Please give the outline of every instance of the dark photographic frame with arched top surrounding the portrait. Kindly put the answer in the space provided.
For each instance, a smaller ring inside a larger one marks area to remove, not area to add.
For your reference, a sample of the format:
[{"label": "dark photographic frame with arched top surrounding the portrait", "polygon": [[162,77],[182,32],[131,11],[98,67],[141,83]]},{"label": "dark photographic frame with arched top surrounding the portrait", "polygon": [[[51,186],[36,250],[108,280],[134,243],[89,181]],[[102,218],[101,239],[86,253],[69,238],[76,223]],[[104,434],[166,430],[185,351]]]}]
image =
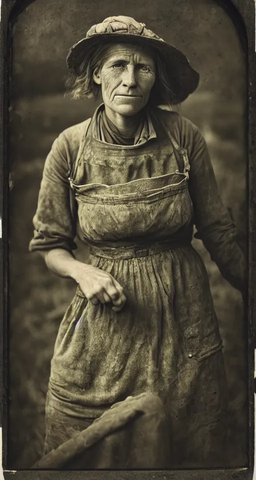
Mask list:
[{"label": "dark photographic frame with arched top surrounding the portrait", "polygon": [[[36,0],[34,0],[36,1]],[[201,470],[169,470],[169,471],[150,471],[150,470],[83,470],[83,471],[43,471],[43,470],[19,470],[15,473],[15,478],[52,478],[52,479],[71,479],[73,476],[93,480],[94,478],[122,478],[129,480],[131,478],[143,479],[247,479],[252,478],[253,474],[253,456],[254,456],[254,335],[256,331],[256,308],[254,301],[254,285],[256,284],[256,46],[255,46],[255,2],[253,0],[215,0],[219,3],[231,17],[239,34],[240,41],[245,51],[247,51],[247,192],[248,192],[248,296],[246,300],[247,324],[248,324],[248,389],[249,389],[249,466],[247,468],[234,469],[201,469]],[[8,160],[7,160],[7,140],[8,140],[8,84],[10,78],[11,64],[11,24],[13,19],[29,4],[28,0],[2,0],[1,3],[1,108],[0,108],[0,218],[2,219],[2,238],[0,241],[0,304],[1,304],[1,334],[0,334],[0,364],[1,364],[1,398],[2,398],[2,432],[3,432],[3,469],[6,465],[6,438],[7,438],[7,407],[8,407],[8,327],[7,327],[7,309],[8,309],[8,211],[7,211],[7,193],[8,193]],[[224,48],[224,45],[223,45]],[[13,472],[4,470],[4,478],[10,478]]]}]

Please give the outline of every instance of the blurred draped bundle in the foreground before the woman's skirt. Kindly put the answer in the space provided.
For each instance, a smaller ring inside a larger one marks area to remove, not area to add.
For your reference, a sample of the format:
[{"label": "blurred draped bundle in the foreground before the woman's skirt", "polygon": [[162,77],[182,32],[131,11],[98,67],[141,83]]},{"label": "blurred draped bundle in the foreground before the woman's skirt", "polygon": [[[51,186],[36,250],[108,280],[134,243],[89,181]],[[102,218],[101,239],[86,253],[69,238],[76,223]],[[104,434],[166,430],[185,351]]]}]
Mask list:
[{"label": "blurred draped bundle in the foreground before the woman's skirt", "polygon": [[127,397],[44,455],[32,468],[167,468],[166,426],[158,396],[142,393]]}]

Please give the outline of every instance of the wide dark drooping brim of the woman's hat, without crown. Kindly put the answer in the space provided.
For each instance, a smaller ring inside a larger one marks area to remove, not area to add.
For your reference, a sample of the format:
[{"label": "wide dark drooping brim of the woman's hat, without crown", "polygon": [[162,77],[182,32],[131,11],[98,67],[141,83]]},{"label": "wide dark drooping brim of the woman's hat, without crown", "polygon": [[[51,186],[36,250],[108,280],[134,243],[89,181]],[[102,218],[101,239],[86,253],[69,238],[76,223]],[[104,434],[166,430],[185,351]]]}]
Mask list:
[{"label": "wide dark drooping brim of the woman's hat, without crown", "polygon": [[109,42],[135,43],[158,50],[165,62],[165,67],[174,93],[175,101],[180,103],[192,93],[198,86],[199,73],[191,67],[187,57],[175,46],[156,38],[150,38],[132,33],[94,33],[90,37],[82,38],[68,51],[66,64],[69,70],[78,72],[84,56],[96,45]]}]

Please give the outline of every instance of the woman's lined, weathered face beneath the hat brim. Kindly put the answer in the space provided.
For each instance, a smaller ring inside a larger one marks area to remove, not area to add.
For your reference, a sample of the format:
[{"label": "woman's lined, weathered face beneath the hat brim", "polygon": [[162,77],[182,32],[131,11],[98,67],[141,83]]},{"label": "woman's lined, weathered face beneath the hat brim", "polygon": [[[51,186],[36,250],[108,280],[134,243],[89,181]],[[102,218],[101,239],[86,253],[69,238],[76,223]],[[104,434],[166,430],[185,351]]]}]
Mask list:
[{"label": "woman's lined, weathered face beneath the hat brim", "polygon": [[134,115],[149,98],[155,80],[155,62],[146,50],[135,45],[111,45],[93,79],[101,84],[108,108],[121,115]]}]

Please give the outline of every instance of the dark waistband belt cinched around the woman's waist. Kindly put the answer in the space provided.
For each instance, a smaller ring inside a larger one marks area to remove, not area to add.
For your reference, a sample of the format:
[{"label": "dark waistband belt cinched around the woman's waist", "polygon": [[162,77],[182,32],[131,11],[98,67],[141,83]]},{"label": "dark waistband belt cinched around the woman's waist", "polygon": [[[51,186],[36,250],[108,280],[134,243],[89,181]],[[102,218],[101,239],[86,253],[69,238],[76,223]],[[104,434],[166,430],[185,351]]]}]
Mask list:
[{"label": "dark waistband belt cinched around the woman's waist", "polygon": [[191,246],[191,238],[164,240],[158,243],[137,244],[130,246],[99,246],[89,244],[90,254],[103,258],[142,258],[161,251],[171,250],[173,248]]}]

